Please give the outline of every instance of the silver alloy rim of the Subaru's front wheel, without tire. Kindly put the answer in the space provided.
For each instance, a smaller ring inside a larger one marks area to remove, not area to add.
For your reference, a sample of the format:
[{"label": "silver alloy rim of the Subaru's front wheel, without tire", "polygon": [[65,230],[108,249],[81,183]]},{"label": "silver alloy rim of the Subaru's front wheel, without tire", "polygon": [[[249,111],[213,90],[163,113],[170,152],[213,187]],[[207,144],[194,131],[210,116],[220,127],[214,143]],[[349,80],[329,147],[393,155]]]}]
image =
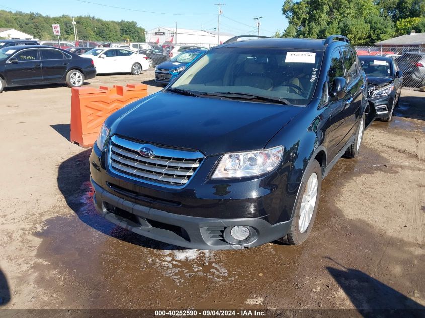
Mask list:
[{"label": "silver alloy rim of the Subaru's front wheel, without tire", "polygon": [[312,173],[308,178],[307,186],[305,187],[301,201],[300,219],[298,221],[298,227],[301,233],[307,231],[311,218],[313,217],[317,201],[318,185],[317,174]]}]

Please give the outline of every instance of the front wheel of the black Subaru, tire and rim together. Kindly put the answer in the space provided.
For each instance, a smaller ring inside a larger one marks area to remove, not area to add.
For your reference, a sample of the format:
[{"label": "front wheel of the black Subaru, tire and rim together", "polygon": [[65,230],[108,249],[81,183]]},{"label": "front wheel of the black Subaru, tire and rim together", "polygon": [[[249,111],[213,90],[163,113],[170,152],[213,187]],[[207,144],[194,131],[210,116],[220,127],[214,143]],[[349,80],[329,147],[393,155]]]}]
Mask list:
[{"label": "front wheel of the black Subaru, tire and rim together", "polygon": [[[316,185],[315,190],[313,189],[314,184]],[[311,190],[309,191],[310,186]],[[307,239],[316,219],[321,186],[322,169],[319,162],[313,159],[301,181],[291,227],[288,233],[280,238],[279,241],[289,245],[299,245]],[[314,205],[312,206],[313,199]]]}]

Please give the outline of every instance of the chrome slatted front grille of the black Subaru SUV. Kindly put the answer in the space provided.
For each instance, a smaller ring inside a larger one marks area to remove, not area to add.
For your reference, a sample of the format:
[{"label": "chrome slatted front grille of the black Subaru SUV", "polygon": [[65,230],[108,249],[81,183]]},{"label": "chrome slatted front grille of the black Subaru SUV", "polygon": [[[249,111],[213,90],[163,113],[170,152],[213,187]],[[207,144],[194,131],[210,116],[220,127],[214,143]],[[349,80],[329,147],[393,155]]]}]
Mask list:
[{"label": "chrome slatted front grille of the black Subaru SUV", "polygon": [[[153,149],[153,157],[138,154],[138,149],[143,147]],[[119,174],[169,186],[184,186],[204,159],[198,151],[162,148],[117,136],[111,137],[108,157],[109,167]]]}]

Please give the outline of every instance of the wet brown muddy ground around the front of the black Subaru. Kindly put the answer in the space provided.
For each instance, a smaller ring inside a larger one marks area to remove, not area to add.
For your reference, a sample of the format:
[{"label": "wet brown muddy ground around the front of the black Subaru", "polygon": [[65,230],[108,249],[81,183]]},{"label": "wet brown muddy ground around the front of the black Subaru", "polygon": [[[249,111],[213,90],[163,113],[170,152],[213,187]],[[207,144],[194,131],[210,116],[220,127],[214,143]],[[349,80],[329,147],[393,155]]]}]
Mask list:
[{"label": "wet brown muddy ground around the front of the black Subaru", "polygon": [[[40,275],[39,283],[60,288],[64,299],[77,293],[82,308],[422,307],[397,290],[416,285],[425,292],[425,283],[414,278],[424,270],[411,264],[422,264],[425,256],[411,252],[407,242],[377,235],[369,224],[348,220],[333,204],[338,188],[354,175],[396,173],[368,147],[357,160],[339,161],[323,181],[305,243],[242,251],[180,249],[106,221],[93,207],[89,152],[60,165],[58,186],[75,215],[47,220],[37,233],[43,240],[36,255],[48,263],[40,272],[55,270],[61,277]],[[403,268],[396,279],[391,267]]]}]

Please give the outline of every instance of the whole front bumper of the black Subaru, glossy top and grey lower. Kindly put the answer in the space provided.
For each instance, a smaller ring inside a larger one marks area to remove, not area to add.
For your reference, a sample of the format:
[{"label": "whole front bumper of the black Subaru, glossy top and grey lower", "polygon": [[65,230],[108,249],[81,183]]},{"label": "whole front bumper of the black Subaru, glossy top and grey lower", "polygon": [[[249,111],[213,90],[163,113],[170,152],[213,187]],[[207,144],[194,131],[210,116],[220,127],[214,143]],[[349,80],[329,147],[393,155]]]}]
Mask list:
[{"label": "whole front bumper of the black Subaru, glossy top and grey lower", "polygon": [[[187,248],[240,249],[271,242],[289,230],[299,183],[286,182],[277,171],[258,179],[211,180],[220,159],[215,155],[204,159],[184,187],[164,187],[116,174],[108,153],[95,144],[90,156],[95,206],[135,233]],[[225,236],[235,225],[251,227],[250,239],[229,243]]]}]

